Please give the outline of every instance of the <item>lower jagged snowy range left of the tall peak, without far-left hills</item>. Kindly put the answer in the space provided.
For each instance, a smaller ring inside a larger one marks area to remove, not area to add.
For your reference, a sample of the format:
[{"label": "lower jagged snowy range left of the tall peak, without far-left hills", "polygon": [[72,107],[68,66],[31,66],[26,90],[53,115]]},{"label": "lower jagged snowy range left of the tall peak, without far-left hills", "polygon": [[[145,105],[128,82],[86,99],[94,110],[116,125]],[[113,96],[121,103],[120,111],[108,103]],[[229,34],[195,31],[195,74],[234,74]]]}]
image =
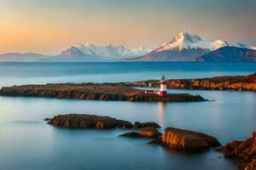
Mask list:
[{"label": "lower jagged snowy range left of the tall peak, without far-left hills", "polygon": [[44,62],[96,62],[136,58],[147,54],[149,48],[125,48],[124,46],[96,46],[91,43],[78,44],[67,48],[61,54],[40,59]]}]

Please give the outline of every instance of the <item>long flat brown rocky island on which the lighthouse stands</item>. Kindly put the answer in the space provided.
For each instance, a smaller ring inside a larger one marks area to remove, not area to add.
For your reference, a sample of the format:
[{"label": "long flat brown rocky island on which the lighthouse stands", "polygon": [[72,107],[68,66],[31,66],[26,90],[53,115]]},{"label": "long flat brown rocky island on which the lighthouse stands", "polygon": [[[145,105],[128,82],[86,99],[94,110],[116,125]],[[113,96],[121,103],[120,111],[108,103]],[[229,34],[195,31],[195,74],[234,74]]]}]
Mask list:
[{"label": "long flat brown rocky island on which the lighthouse stands", "polygon": [[45,97],[57,99],[95,99],[147,102],[189,102],[206,101],[200,95],[191,94],[144,94],[143,90],[108,83],[46,84],[3,87],[3,96]]}]

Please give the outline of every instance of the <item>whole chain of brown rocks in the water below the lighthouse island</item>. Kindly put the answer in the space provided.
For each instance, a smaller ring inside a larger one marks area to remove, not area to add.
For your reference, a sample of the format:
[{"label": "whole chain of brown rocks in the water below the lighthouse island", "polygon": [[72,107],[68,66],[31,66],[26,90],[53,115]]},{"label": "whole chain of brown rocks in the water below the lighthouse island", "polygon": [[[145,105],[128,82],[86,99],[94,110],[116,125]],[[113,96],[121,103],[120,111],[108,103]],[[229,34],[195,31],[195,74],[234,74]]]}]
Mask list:
[{"label": "whole chain of brown rocks in the water below the lighthouse island", "polygon": [[167,127],[162,136],[157,128],[159,124],[155,122],[127,122],[118,120],[110,116],[96,115],[59,115],[53,118],[46,118],[45,121],[55,127],[65,128],[125,128],[139,130],[138,132],[124,133],[119,136],[131,138],[155,138],[151,144],[160,144],[169,149],[185,150],[185,151],[202,151],[209,150],[211,147],[219,146],[217,139],[205,133],[197,133],[193,131]]}]

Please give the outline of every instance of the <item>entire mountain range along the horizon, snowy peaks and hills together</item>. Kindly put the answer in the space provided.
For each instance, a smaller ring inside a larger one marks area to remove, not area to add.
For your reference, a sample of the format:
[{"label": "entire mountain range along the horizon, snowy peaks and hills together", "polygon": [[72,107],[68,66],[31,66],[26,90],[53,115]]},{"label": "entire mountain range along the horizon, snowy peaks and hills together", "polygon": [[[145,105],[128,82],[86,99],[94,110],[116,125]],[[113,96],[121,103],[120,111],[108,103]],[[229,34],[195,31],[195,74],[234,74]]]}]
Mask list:
[{"label": "entire mountain range along the horizon, snowy peaks and hills together", "polygon": [[206,41],[187,31],[177,33],[160,47],[126,48],[123,45],[73,45],[54,56],[43,54],[0,54],[0,61],[97,62],[97,61],[256,61],[256,46],[223,40]]}]

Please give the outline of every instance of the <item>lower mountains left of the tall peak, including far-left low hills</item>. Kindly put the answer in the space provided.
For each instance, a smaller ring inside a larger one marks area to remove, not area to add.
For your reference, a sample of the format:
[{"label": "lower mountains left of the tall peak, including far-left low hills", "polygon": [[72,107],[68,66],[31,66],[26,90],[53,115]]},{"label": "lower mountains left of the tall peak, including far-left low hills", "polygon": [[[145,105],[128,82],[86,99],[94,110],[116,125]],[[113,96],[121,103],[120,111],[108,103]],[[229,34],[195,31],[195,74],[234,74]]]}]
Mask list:
[{"label": "lower mountains left of the tall peak, including far-left low hills", "polygon": [[149,48],[126,48],[123,45],[96,46],[91,43],[78,44],[67,48],[58,55],[43,55],[33,53],[0,54],[0,62],[94,62],[122,61],[142,56],[150,52]]}]

